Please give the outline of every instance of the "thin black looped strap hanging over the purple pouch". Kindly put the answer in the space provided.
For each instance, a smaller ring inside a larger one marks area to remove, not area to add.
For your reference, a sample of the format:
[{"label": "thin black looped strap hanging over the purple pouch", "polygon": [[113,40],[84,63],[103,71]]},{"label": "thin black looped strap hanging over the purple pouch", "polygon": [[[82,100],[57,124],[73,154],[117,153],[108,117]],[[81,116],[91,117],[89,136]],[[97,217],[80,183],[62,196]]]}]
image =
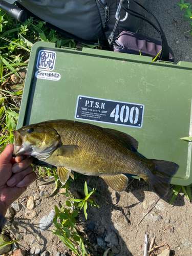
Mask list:
[{"label": "thin black looped strap hanging over the purple pouch", "polygon": [[132,16],[135,16],[137,18],[141,18],[143,20],[145,20],[147,23],[149,23],[150,25],[152,25],[161,35],[161,41],[162,41],[162,50],[161,50],[161,54],[160,54],[160,57],[159,59],[160,60],[164,60],[164,61],[169,61],[169,50],[168,50],[168,44],[167,44],[167,40],[166,40],[166,37],[165,37],[165,34],[161,28],[161,25],[159,24],[157,18],[153,15],[153,13],[151,13],[150,11],[148,11],[143,5],[141,5],[138,1],[136,0],[133,0],[136,4],[138,4],[140,7],[142,7],[145,11],[147,11],[149,14],[151,14],[158,26],[159,26],[159,29],[156,27],[155,24],[153,24],[151,22],[150,19],[146,18],[145,16],[143,16],[142,14],[139,14],[138,12],[135,12],[133,10],[130,10],[130,9],[127,9],[126,7],[123,6],[123,0],[120,0],[120,4],[121,4],[121,7],[126,11],[128,12],[129,14],[131,14]]}]

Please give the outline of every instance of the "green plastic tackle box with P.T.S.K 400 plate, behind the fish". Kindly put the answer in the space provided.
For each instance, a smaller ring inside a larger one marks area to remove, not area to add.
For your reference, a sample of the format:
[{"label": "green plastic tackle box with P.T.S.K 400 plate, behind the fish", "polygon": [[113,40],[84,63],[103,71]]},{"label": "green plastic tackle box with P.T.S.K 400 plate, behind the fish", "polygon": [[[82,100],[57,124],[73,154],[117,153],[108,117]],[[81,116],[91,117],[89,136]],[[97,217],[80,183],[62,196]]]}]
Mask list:
[{"label": "green plastic tackle box with P.T.S.K 400 plate, behind the fish", "polygon": [[17,129],[56,119],[116,129],[138,140],[146,158],[179,164],[171,183],[190,185],[191,142],[181,138],[192,137],[191,80],[190,62],[37,42]]}]

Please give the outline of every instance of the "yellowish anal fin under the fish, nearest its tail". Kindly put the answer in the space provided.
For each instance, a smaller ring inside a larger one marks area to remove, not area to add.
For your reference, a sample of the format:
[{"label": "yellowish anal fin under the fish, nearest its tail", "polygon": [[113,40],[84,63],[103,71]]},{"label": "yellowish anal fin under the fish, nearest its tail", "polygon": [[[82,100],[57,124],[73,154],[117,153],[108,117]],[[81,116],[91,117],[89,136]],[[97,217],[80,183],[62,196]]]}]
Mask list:
[{"label": "yellowish anal fin under the fish, nearest its tail", "polygon": [[106,184],[108,184],[108,186],[118,192],[124,191],[128,184],[128,178],[124,174],[113,176],[101,175],[99,177],[101,177],[106,182]]}]

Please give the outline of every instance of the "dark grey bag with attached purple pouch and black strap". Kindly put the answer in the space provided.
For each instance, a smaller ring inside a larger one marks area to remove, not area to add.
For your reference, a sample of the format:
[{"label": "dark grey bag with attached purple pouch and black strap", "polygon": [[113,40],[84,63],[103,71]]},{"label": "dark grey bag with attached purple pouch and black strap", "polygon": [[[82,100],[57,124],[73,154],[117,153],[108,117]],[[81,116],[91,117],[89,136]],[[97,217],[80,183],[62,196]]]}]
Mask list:
[{"label": "dark grey bag with attached purple pouch and black strap", "polygon": [[[143,3],[145,0],[140,1]],[[17,6],[29,16],[46,20],[50,28],[85,44],[98,44],[99,40],[99,44],[107,46],[108,39],[115,52],[174,61],[173,52],[167,45],[158,20],[136,0],[120,0],[120,3],[117,0],[25,0],[17,2]],[[142,9],[155,18],[159,28],[141,15]],[[135,33],[139,18],[150,23],[160,33],[162,44],[156,39]]]}]

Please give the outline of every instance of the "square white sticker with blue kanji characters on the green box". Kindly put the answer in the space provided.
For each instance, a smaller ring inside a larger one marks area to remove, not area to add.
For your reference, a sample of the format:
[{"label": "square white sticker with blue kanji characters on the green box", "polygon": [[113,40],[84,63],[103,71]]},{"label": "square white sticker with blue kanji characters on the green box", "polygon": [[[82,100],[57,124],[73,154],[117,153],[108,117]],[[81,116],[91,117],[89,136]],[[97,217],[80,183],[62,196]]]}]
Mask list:
[{"label": "square white sticker with blue kanji characters on the green box", "polygon": [[55,67],[56,52],[41,50],[38,54],[37,69],[53,70]]}]

